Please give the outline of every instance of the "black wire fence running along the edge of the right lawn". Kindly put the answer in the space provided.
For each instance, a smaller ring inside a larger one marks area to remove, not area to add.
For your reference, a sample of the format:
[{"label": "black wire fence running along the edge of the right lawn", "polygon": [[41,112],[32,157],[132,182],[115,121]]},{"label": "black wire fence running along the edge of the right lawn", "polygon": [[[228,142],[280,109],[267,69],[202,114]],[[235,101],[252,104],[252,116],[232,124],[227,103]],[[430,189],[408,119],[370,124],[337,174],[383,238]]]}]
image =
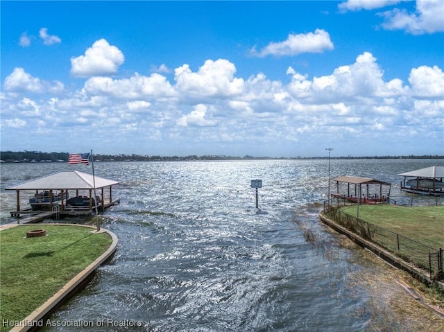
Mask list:
[{"label": "black wire fence running along the edge of the right lawn", "polygon": [[443,279],[443,249],[436,249],[383,227],[351,216],[325,203],[325,216],[353,233],[384,247],[404,261],[427,270],[430,279]]}]

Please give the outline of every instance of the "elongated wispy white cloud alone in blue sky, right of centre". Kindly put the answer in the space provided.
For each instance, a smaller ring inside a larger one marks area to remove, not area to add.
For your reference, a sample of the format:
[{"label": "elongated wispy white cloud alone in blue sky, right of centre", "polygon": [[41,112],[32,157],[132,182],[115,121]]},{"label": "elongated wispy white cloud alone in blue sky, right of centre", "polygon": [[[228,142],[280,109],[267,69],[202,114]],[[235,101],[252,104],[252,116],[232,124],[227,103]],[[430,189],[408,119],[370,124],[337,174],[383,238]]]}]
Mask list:
[{"label": "elongated wispy white cloud alone in blue sky, right of centre", "polygon": [[316,29],[314,33],[290,34],[284,42],[271,42],[262,51],[251,50],[253,55],[298,55],[300,53],[322,53],[334,48],[330,35],[323,29]]}]

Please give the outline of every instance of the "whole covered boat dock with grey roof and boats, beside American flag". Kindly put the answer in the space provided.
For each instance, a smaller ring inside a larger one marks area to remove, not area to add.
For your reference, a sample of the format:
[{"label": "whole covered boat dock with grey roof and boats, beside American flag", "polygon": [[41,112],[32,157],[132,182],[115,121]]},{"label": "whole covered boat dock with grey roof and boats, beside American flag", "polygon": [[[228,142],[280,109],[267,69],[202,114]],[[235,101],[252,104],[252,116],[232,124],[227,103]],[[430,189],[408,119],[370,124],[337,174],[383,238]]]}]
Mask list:
[{"label": "whole covered boat dock with grey roof and boats, beside American flag", "polygon": [[[11,216],[43,213],[45,210],[60,215],[81,215],[92,214],[95,209],[103,211],[118,204],[120,200],[112,197],[112,186],[115,184],[119,182],[79,171],[62,171],[11,186],[6,190],[17,192],[17,211],[12,211]],[[31,207],[26,205],[22,209],[22,191],[34,191],[33,197],[29,198]]]}]

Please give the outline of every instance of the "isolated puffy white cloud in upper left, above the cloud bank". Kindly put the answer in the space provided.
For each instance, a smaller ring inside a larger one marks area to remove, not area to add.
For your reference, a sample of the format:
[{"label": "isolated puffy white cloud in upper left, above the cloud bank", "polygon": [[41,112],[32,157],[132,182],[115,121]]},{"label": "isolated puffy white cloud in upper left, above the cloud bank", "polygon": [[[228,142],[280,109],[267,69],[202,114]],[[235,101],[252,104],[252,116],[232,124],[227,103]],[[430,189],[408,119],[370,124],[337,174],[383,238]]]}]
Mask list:
[{"label": "isolated puffy white cloud in upper left, above the cloud bank", "polygon": [[85,55],[71,58],[71,74],[76,77],[101,76],[117,73],[125,57],[116,47],[104,39],[92,44]]}]

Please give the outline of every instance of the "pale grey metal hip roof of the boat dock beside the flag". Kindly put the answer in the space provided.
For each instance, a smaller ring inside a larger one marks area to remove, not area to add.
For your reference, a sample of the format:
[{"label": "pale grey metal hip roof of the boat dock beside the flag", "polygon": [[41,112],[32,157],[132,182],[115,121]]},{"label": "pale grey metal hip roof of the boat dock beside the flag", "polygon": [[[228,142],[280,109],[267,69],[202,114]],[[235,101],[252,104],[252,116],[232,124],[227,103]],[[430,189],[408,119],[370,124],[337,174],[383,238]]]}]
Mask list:
[{"label": "pale grey metal hip roof of the boat dock beside the flag", "polygon": [[[119,182],[94,176],[96,189],[113,186]],[[60,189],[94,189],[92,175],[79,171],[62,171],[35,180],[17,184],[6,190],[60,190]]]}]

